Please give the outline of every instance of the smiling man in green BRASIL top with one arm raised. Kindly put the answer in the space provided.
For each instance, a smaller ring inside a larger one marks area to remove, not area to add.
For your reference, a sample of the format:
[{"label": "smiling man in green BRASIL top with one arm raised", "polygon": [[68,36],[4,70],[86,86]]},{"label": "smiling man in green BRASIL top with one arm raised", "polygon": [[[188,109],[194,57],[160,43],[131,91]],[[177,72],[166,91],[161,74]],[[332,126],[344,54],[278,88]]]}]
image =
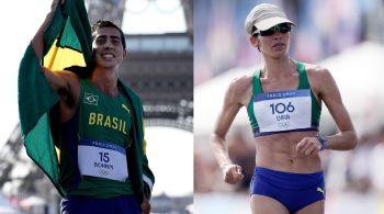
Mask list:
[{"label": "smiling man in green BRASIL top with one arm raised", "polygon": [[[39,61],[43,34],[57,7],[60,5],[54,0],[32,41]],[[57,71],[42,67],[59,95],[50,117],[59,149],[59,185],[65,192],[61,213],[150,212],[155,177],[145,156],[146,143],[137,136],[143,134],[138,132],[143,128],[143,106],[139,98],[118,80],[120,65],[127,55],[125,48],[122,30],[112,22],[99,21],[92,26],[92,66],[80,72],[79,67]],[[143,174],[138,174],[140,171]],[[144,196],[138,199],[140,192]]]}]

